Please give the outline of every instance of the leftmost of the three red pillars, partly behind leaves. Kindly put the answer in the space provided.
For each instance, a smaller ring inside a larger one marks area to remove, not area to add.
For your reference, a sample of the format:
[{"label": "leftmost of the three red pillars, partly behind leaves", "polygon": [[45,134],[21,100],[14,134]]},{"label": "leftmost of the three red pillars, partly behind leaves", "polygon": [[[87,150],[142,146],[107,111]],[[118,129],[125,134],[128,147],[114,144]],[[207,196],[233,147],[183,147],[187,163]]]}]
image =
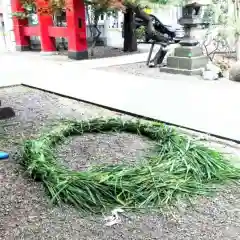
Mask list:
[{"label": "leftmost of the three red pillars, partly behind leaves", "polygon": [[[23,12],[20,0],[11,0],[12,12]],[[13,32],[17,51],[27,51],[30,48],[30,38],[23,35],[23,27],[28,26],[27,19],[13,17]]]}]

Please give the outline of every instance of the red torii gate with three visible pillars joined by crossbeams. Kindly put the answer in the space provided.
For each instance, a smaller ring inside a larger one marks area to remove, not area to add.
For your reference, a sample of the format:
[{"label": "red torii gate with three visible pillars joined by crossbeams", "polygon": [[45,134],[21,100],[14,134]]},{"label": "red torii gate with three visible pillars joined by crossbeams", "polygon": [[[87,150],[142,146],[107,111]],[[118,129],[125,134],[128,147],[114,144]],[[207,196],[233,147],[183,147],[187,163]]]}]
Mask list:
[{"label": "red torii gate with three visible pillars joined by crossbeams", "polygon": [[[12,12],[23,12],[20,0],[11,0]],[[27,19],[13,17],[13,28],[18,51],[30,50],[30,36],[39,36],[43,52],[56,51],[55,38],[68,39],[68,57],[88,58],[84,0],[66,0],[67,27],[53,26],[48,0],[36,0],[38,25],[28,26]]]}]

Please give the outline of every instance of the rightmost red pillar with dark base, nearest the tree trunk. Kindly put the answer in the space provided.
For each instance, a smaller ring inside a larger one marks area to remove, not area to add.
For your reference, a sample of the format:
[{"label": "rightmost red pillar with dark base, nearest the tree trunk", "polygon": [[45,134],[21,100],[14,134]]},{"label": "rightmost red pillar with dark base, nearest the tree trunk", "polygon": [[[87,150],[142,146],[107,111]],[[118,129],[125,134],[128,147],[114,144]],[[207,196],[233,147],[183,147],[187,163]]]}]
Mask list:
[{"label": "rightmost red pillar with dark base, nearest the tree trunk", "polygon": [[84,0],[66,0],[68,28],[68,57],[81,60],[88,58]]}]

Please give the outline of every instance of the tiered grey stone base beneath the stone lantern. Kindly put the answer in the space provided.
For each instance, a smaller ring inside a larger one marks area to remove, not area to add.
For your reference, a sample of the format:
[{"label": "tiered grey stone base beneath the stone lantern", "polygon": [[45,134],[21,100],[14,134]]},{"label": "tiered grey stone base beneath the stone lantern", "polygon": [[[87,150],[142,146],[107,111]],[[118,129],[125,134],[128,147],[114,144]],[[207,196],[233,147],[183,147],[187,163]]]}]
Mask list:
[{"label": "tiered grey stone base beneath the stone lantern", "polygon": [[207,56],[204,56],[199,46],[180,46],[175,48],[174,56],[167,58],[167,66],[161,67],[161,72],[201,75],[202,70],[208,63]]}]

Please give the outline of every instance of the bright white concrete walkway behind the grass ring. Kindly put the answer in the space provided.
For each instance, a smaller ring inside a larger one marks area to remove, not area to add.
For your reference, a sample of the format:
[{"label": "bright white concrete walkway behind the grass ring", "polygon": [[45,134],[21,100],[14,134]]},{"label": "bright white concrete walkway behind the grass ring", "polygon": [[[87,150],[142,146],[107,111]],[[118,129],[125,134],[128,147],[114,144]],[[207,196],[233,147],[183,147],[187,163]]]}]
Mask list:
[{"label": "bright white concrete walkway behind the grass ring", "polygon": [[18,57],[7,58],[15,61],[16,67],[13,72],[6,66],[9,60],[1,62],[0,58],[0,86],[2,79],[9,83],[17,79],[33,87],[240,141],[238,83],[191,82],[189,78],[179,80],[177,75],[166,81],[94,70],[80,62],[56,64],[26,58],[23,64]]}]

